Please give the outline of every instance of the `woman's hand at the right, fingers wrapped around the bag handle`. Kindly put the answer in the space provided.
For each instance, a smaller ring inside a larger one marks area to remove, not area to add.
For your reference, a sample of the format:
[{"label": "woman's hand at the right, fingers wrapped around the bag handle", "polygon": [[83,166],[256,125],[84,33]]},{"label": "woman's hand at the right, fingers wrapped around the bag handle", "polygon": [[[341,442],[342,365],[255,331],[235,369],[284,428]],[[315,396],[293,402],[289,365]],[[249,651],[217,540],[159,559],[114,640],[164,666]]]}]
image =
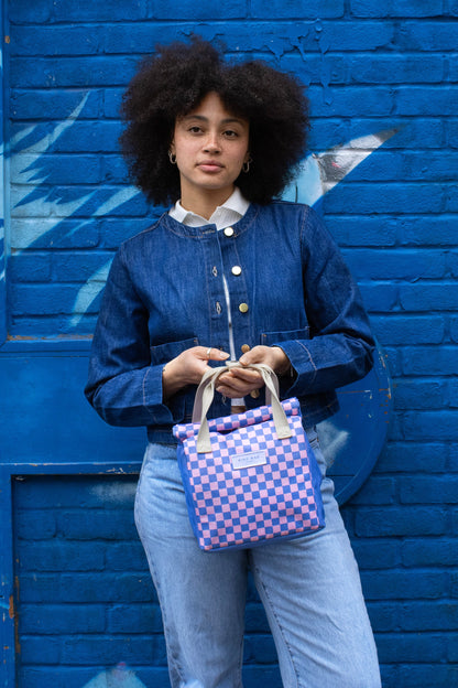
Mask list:
[{"label": "woman's hand at the right, fingers wrapped around the bag handle", "polygon": [[[242,366],[251,363],[264,363],[277,375],[283,375],[290,368],[290,358],[279,346],[253,346],[252,350],[239,358]],[[232,368],[223,373],[217,383],[217,391],[229,399],[246,397],[254,389],[264,385],[261,373],[250,368]]]}]

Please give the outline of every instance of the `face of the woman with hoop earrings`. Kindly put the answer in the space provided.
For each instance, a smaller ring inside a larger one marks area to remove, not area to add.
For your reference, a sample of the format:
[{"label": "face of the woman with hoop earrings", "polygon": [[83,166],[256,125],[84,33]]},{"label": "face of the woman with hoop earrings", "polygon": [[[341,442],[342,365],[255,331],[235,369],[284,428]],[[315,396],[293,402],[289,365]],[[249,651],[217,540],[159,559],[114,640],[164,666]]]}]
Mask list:
[{"label": "face of the woman with hoop earrings", "polygon": [[249,121],[228,111],[216,93],[176,120],[171,151],[176,155],[185,207],[192,209],[189,200],[196,194],[216,195],[221,202],[230,196],[249,159]]}]

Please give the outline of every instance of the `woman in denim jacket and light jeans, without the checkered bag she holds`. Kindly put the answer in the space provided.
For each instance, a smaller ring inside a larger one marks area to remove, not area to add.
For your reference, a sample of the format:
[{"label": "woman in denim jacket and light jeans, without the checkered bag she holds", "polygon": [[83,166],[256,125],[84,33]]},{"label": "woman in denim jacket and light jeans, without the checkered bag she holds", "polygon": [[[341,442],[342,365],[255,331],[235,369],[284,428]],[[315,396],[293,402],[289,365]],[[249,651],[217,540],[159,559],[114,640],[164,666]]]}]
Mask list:
[{"label": "woman in denim jacket and light jeans, without the checkered bag she holds", "polygon": [[[273,201],[305,150],[299,84],[261,62],[230,65],[208,43],[175,43],[126,94],[121,141],[137,184],[174,203],[123,243],[94,337],[89,401],[109,423],[146,426],[135,522],[163,613],[173,687],[241,686],[247,572],[286,688],[374,688],[377,653],[332,483],[326,528],[247,550],[199,550],[172,426],[190,420],[208,365],[265,363],[315,424],[335,388],[364,376],[373,340],[358,289],[316,214]],[[177,201],[179,198],[179,201]],[[219,378],[210,417],[263,402],[260,375]]]}]

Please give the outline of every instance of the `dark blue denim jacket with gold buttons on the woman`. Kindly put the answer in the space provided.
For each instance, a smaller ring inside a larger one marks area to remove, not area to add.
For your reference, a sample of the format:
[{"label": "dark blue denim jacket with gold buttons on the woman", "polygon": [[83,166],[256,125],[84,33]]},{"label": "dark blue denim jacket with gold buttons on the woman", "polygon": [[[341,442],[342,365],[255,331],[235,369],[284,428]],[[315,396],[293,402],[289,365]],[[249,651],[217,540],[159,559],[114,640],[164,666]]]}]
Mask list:
[{"label": "dark blue denim jacket with gold buttons on the woman", "polygon": [[[222,275],[237,355],[247,344],[285,352],[292,370],[281,397],[299,399],[305,427],[336,412],[336,387],[370,370],[374,342],[358,287],[312,208],[252,204],[219,232],[164,214],[120,246],[103,291],[85,393],[108,423],[174,442],[172,426],[190,421],[196,387],[165,404],[162,370],[190,346],[229,351]],[[246,397],[248,408],[263,402],[263,394]],[[209,417],[228,413],[230,399],[217,394]]]}]

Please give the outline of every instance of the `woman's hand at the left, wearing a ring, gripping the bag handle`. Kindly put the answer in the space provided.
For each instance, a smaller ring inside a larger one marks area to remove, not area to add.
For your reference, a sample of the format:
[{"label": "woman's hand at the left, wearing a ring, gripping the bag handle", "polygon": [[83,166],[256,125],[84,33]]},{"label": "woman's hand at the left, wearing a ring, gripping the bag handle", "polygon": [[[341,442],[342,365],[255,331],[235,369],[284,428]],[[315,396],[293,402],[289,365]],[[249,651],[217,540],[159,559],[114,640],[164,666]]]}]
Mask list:
[{"label": "woman's hand at the left, wearing a ring, gripping the bag handle", "polygon": [[208,361],[227,361],[229,354],[219,348],[208,346],[193,346],[172,358],[162,370],[162,389],[164,401],[173,397],[187,385],[198,385],[206,369]]}]

